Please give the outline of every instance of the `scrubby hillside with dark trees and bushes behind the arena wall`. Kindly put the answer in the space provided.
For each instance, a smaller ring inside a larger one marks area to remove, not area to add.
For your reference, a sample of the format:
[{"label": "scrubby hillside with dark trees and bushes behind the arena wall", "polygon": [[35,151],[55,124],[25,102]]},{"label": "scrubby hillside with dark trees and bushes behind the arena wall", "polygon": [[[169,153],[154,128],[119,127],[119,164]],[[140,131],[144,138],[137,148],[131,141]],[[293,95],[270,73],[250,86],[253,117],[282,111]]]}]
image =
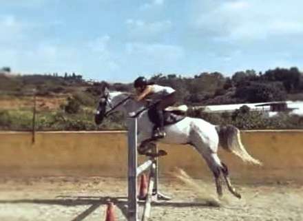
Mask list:
[{"label": "scrubby hillside with dark trees and bushes behind the arena wall", "polygon": [[[201,73],[193,77],[157,74],[149,81],[174,87],[178,103],[189,106],[303,100],[303,74],[296,67],[276,68],[258,74],[247,70],[236,72],[231,77],[218,72]],[[65,73],[64,76],[0,73],[0,129],[31,129],[34,95],[37,129],[124,128],[118,114],[105,120],[101,127],[94,125],[94,111],[103,85],[111,90],[132,91],[132,83],[89,82],[74,73]],[[211,123],[236,123],[235,116],[222,117],[201,112],[189,114],[203,117]],[[253,117],[260,121],[260,116]],[[263,121],[248,126],[238,123],[238,126],[247,129],[301,127],[293,123],[280,123],[277,126]]]}]

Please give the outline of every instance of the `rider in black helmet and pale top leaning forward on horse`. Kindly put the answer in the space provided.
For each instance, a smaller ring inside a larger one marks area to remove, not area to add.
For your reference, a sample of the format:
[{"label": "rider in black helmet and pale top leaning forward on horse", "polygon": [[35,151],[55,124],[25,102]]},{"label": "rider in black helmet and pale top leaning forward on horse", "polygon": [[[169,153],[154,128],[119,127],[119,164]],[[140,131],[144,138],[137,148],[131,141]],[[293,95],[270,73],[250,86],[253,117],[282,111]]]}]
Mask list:
[{"label": "rider in black helmet and pale top leaning forward on horse", "polygon": [[174,105],[176,103],[176,91],[171,87],[164,87],[156,85],[154,83],[148,83],[144,76],[139,76],[134,81],[134,87],[136,89],[137,101],[142,101],[147,95],[151,96],[151,99],[159,101],[156,104],[157,123],[154,130],[154,138],[164,138],[164,116],[163,110],[166,107]]}]

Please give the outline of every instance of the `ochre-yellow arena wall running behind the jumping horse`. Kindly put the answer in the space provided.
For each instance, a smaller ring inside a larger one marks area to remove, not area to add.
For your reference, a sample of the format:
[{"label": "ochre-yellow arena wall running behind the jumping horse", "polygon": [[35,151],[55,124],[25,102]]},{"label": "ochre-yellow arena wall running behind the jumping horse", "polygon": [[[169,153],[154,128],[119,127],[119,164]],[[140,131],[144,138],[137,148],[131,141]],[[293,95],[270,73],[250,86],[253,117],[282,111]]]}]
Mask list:
[{"label": "ochre-yellow arena wall running behind the jumping horse", "polygon": [[[303,131],[242,131],[242,143],[263,166],[245,165],[220,149],[237,182],[303,182]],[[127,176],[125,131],[0,132],[0,177]],[[160,176],[173,176],[176,168],[194,178],[210,179],[205,161],[190,146],[160,145],[168,156],[160,158]]]}]

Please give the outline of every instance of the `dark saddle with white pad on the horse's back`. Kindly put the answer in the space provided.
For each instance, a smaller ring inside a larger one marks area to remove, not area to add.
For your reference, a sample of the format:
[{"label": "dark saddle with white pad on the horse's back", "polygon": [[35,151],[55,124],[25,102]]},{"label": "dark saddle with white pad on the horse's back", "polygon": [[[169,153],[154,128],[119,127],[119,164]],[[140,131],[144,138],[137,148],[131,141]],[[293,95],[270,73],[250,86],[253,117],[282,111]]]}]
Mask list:
[{"label": "dark saddle with white pad on the horse's back", "polygon": [[[183,120],[186,116],[187,105],[180,105],[179,107],[167,107],[164,110],[164,125],[173,125],[178,123],[180,120]],[[152,123],[157,123],[157,114],[156,114],[156,106],[149,108],[148,110],[149,120]]]}]

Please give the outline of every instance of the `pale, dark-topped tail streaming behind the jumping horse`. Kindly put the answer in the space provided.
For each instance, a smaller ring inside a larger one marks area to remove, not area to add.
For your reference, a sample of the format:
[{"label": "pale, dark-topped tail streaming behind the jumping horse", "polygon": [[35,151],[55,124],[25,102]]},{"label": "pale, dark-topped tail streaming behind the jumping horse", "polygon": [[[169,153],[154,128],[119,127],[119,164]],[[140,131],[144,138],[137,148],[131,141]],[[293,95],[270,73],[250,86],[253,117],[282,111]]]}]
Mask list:
[{"label": "pale, dark-topped tail streaming behind the jumping horse", "polygon": [[259,160],[256,160],[247,153],[240,138],[240,130],[233,125],[217,125],[216,131],[219,135],[219,145],[240,157],[244,162],[250,162],[255,165],[262,165]]}]

